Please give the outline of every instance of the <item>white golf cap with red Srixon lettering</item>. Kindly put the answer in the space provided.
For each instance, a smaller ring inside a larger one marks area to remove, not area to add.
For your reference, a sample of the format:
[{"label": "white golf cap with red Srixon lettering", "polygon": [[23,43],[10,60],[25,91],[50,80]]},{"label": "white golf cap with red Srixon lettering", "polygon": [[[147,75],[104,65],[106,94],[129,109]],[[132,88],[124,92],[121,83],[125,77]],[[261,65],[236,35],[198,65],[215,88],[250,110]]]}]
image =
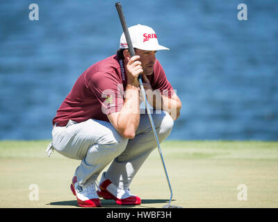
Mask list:
[{"label": "white golf cap with red Srixon lettering", "polygon": [[[156,33],[154,29],[149,26],[142,26],[140,24],[129,27],[129,35],[133,48],[142,49],[146,51],[169,50],[168,48],[158,44]],[[128,49],[126,37],[122,33],[120,39],[120,49]]]}]

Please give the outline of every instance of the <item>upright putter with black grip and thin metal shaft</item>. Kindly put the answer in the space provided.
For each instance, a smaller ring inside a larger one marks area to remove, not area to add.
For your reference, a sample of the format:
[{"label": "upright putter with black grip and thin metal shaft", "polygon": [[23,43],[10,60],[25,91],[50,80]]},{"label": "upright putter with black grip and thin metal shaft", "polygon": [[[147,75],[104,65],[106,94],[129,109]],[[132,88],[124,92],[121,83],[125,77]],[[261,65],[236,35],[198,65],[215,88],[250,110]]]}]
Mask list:
[{"label": "upright putter with black grip and thin metal shaft", "polygon": [[[131,42],[131,37],[129,35],[129,29],[126,26],[126,20],[124,18],[124,13],[122,12],[122,4],[120,2],[118,2],[118,3],[115,3],[115,6],[117,8],[117,13],[119,14],[119,17],[120,17],[120,21],[121,21],[121,24],[122,24],[122,30],[124,31],[124,36],[126,37],[126,42],[129,46],[129,53],[130,53],[131,57],[135,56],[135,51],[133,49],[133,45],[132,45],[132,42]],[[169,186],[169,189],[170,189],[169,203],[167,205],[164,205],[162,208],[182,208],[182,207],[178,207],[178,206],[175,206],[175,205],[170,205],[171,201],[172,201],[172,196],[173,196],[172,187],[171,187],[170,180],[169,180],[169,177],[168,177],[168,173],[167,173],[167,170],[166,170],[165,162],[163,160],[163,155],[162,155],[162,152],[161,152],[161,146],[159,144],[158,137],[157,137],[157,134],[156,134],[156,128],[154,126],[154,120],[152,119],[152,114],[149,111],[149,105],[147,103],[147,96],[146,96],[145,89],[144,89],[144,86],[143,86],[143,83],[142,83],[142,74],[139,74],[138,80],[139,80],[142,96],[143,96],[143,99],[144,99],[144,102],[145,102],[145,107],[147,109],[147,114],[149,116],[149,122],[151,123],[151,126],[152,126],[152,132],[153,132],[154,137],[156,139],[156,145],[158,147],[158,152],[161,156],[161,162],[163,164],[165,176],[167,178],[168,186]]]}]

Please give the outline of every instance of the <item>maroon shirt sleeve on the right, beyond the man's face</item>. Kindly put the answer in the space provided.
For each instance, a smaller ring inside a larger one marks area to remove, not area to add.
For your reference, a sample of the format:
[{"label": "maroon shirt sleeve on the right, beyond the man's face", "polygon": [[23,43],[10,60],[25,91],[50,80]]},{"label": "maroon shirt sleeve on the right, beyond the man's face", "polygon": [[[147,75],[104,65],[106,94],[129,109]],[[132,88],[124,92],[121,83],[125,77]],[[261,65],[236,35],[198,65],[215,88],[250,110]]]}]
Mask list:
[{"label": "maroon shirt sleeve on the right, beyond the man's face", "polygon": [[152,84],[152,88],[154,90],[159,89],[161,94],[168,96],[168,98],[174,95],[174,89],[167,80],[165,71],[158,60],[154,64],[154,83]]}]

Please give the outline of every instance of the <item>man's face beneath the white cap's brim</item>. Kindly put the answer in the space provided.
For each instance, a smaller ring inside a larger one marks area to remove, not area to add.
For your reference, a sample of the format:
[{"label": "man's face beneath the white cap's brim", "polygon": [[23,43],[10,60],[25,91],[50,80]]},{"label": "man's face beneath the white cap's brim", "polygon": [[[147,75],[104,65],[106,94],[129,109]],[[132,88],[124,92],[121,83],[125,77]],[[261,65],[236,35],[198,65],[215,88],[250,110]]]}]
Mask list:
[{"label": "man's face beneath the white cap's brim", "polygon": [[136,49],[136,56],[140,56],[139,61],[142,63],[143,74],[152,75],[154,72],[154,62],[156,61],[156,51],[145,51]]}]

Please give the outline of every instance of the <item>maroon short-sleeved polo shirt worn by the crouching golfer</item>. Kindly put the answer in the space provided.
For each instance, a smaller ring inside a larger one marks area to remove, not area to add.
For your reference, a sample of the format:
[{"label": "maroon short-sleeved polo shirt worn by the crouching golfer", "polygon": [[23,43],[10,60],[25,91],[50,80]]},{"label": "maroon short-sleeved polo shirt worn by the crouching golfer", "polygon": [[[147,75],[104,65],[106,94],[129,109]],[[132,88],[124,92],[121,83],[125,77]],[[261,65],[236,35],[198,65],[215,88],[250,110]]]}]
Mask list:
[{"label": "maroon short-sleeved polo shirt worn by the crouching golfer", "polygon": [[[158,60],[154,63],[154,74],[147,78],[153,89],[167,90],[168,97],[174,93]],[[52,123],[66,126],[70,119],[77,123],[88,119],[108,121],[107,114],[122,109],[126,83],[123,61],[117,60],[117,56],[95,63],[76,80]]]}]

